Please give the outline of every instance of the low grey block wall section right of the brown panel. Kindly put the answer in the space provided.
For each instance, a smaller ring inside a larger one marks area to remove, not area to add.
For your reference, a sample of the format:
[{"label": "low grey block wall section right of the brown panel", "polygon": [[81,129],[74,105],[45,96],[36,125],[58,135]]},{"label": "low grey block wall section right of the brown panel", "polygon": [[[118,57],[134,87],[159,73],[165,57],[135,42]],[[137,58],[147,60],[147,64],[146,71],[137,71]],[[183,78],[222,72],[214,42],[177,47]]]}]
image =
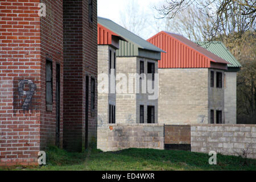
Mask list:
[{"label": "low grey block wall section right of the brown panel", "polygon": [[242,154],[256,159],[256,125],[191,125],[191,151],[216,151],[224,155]]}]

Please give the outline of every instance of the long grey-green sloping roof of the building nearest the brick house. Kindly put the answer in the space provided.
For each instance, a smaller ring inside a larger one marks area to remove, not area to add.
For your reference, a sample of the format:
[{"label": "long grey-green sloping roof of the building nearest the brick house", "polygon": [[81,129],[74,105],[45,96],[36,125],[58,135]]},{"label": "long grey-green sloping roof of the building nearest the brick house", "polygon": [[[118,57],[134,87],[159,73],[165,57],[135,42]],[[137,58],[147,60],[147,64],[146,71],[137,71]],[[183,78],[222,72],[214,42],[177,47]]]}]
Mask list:
[{"label": "long grey-green sloping roof of the building nearest the brick house", "polygon": [[[138,35],[133,34],[133,32],[130,32],[126,28],[119,26],[119,24],[113,22],[110,19],[106,19],[106,18],[102,18],[102,17],[98,16],[98,23],[100,23],[102,26],[108,28],[109,30],[113,31],[115,34],[122,36],[128,42],[133,43],[135,45],[135,47],[142,48],[142,49],[148,49],[150,51],[164,52],[162,49],[160,49],[160,48],[154,46],[153,44],[147,42],[146,40],[140,38]],[[129,47],[130,45],[127,44],[127,46]],[[123,51],[123,52],[125,52],[125,51]],[[124,55],[124,56],[128,56],[128,55]],[[137,55],[134,55],[134,56],[137,56]]]}]

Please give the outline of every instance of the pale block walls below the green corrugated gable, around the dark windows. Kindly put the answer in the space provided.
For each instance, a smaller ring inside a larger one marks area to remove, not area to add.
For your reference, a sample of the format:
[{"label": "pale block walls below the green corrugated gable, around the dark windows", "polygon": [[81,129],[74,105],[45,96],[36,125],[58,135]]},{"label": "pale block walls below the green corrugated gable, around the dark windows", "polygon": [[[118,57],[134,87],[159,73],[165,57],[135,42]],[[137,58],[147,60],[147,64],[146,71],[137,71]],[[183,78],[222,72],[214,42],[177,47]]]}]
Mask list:
[{"label": "pale block walls below the green corrugated gable, around the dark windows", "polygon": [[[148,62],[155,63],[155,73],[158,73],[158,61],[141,57],[117,57],[117,74],[123,73],[127,77],[127,88],[124,90],[126,93],[116,94],[117,123],[139,123],[140,105],[144,105],[144,123],[147,122],[147,106],[155,106],[155,123],[158,123],[158,97],[155,100],[149,100],[148,96],[152,94],[136,93],[135,80],[129,92],[129,74],[139,73],[140,61],[144,61],[144,73],[147,73]],[[117,88],[119,88],[118,82],[117,78]]]}]

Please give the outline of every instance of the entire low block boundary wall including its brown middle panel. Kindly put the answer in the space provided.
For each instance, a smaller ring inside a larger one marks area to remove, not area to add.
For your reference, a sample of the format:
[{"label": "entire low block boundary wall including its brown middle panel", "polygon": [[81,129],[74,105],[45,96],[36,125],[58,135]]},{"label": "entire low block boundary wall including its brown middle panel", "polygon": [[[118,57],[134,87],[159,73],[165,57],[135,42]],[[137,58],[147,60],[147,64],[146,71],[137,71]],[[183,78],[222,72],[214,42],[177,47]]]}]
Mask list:
[{"label": "entire low block boundary wall including its brown middle panel", "polygon": [[109,124],[98,127],[97,147],[102,151],[125,148],[189,150],[256,159],[256,125]]}]

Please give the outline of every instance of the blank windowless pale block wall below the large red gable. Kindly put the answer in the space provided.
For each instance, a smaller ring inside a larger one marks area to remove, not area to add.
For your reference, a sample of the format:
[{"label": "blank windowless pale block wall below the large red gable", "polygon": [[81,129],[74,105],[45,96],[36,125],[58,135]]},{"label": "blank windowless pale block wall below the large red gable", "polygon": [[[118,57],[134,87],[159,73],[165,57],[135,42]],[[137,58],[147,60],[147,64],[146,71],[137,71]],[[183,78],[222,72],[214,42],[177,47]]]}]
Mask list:
[{"label": "blank windowless pale block wall below the large red gable", "polygon": [[158,69],[158,122],[208,123],[208,68]]}]

